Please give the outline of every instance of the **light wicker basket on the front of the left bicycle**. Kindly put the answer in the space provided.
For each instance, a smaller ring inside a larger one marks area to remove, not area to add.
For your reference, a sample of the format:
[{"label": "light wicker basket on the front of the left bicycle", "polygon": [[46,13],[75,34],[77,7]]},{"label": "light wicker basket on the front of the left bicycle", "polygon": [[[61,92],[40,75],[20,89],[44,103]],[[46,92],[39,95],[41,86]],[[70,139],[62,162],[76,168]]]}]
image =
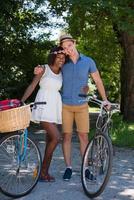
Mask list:
[{"label": "light wicker basket on the front of the left bicycle", "polygon": [[0,111],[0,132],[12,132],[25,129],[30,124],[30,105]]}]

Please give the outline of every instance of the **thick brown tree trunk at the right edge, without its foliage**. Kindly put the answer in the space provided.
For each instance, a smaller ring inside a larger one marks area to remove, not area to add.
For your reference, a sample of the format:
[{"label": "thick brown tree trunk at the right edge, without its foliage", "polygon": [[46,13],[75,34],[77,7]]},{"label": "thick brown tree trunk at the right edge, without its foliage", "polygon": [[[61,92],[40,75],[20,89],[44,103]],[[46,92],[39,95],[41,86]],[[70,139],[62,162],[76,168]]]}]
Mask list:
[{"label": "thick brown tree trunk at the right edge, without its foliage", "polygon": [[134,122],[134,36],[120,35],[123,47],[121,62],[121,112],[126,121]]}]

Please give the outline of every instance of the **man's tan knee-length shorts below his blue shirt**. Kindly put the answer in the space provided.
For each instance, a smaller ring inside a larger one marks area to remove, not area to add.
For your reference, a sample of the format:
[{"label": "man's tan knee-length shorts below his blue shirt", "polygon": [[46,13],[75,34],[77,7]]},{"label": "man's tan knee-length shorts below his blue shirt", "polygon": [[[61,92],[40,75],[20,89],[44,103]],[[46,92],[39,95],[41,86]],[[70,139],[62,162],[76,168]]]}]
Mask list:
[{"label": "man's tan knee-length shorts below his blue shirt", "polygon": [[88,104],[65,105],[62,107],[63,133],[72,133],[73,123],[76,123],[77,131],[80,133],[89,132]]}]

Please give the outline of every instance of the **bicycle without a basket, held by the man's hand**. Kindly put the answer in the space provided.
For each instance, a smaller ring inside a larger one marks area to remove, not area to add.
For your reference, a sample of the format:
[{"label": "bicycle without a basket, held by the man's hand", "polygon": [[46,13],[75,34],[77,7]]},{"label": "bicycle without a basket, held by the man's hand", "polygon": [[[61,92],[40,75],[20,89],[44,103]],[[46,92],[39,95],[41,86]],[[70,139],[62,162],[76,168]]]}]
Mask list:
[{"label": "bicycle without a basket, held by the man's hand", "polygon": [[105,189],[112,170],[113,148],[109,131],[112,126],[112,115],[119,111],[118,104],[111,104],[108,111],[103,101],[88,96],[86,101],[100,107],[93,138],[86,147],[82,166],[81,181],[85,194],[94,198]]}]

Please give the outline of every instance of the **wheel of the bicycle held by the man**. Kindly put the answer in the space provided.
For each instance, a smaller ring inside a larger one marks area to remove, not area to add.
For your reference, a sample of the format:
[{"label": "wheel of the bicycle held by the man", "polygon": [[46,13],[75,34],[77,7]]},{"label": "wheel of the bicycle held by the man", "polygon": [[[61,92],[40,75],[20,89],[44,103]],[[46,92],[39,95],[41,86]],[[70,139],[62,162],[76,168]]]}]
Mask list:
[{"label": "wheel of the bicycle held by the man", "polygon": [[81,181],[88,197],[97,197],[105,189],[111,174],[112,158],[112,144],[108,136],[98,134],[87,145],[82,160]]}]

